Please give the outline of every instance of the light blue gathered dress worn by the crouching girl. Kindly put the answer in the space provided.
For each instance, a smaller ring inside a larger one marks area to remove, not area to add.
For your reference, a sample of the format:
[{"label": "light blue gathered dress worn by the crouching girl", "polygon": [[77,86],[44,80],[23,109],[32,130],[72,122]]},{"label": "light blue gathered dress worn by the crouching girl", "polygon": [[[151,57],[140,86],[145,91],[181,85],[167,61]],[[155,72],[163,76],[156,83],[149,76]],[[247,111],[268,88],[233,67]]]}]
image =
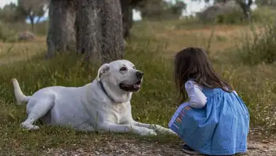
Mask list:
[{"label": "light blue gathered dress worn by the crouching girl", "polygon": [[182,104],[169,128],[193,150],[204,155],[235,155],[247,150],[249,113],[234,92],[203,88],[204,108]]}]

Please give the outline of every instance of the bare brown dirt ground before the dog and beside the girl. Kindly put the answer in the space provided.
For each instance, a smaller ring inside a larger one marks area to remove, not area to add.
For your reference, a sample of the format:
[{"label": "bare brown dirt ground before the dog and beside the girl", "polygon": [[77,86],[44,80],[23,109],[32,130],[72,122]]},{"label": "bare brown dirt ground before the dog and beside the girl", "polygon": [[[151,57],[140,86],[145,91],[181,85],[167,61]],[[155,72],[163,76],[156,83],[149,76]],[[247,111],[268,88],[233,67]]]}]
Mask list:
[{"label": "bare brown dirt ground before the dog and beside the girl", "polygon": [[[153,140],[137,140],[137,139],[108,139],[110,142],[95,142],[93,146],[79,146],[76,148],[48,148],[41,155],[100,155],[100,156],[190,156],[181,150],[182,142],[155,142]],[[94,141],[93,141],[94,142]],[[259,129],[250,129],[248,136],[247,153],[237,154],[243,156],[275,156],[276,155],[276,137],[270,135],[266,137],[263,133],[259,133]],[[195,155],[199,156],[199,155]]]}]

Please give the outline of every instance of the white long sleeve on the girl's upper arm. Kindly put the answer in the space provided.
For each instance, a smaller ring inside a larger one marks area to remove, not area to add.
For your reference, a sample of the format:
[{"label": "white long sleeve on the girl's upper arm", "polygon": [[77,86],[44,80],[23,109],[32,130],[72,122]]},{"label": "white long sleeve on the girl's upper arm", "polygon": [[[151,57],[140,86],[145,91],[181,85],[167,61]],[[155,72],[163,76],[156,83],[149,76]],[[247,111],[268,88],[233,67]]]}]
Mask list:
[{"label": "white long sleeve on the girl's upper arm", "polygon": [[187,81],[185,84],[187,95],[190,99],[190,106],[193,108],[204,108],[207,102],[207,97],[202,92],[201,86],[198,86],[195,81]]}]

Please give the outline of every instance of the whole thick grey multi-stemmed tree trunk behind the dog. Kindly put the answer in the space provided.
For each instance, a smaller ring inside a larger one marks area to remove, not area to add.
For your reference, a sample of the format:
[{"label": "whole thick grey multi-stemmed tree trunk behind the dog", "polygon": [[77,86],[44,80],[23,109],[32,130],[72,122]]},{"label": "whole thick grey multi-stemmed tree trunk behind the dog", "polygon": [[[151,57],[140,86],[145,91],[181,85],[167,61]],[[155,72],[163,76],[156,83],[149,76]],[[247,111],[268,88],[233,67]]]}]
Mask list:
[{"label": "whole thick grey multi-stemmed tree trunk behind the dog", "polygon": [[49,8],[48,57],[74,45],[87,59],[108,62],[124,52],[120,0],[52,0]]}]

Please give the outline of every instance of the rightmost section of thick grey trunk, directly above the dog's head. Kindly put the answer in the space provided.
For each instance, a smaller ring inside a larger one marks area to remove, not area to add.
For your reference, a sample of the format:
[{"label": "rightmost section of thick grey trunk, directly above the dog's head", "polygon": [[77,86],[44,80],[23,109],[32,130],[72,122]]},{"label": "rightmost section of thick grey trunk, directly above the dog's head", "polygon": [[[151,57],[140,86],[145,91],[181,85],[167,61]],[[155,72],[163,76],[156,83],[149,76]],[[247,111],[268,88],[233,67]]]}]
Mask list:
[{"label": "rightmost section of thick grey trunk, directly above the dog's head", "polygon": [[98,0],[101,9],[101,60],[122,59],[124,55],[123,21],[119,0]]}]

